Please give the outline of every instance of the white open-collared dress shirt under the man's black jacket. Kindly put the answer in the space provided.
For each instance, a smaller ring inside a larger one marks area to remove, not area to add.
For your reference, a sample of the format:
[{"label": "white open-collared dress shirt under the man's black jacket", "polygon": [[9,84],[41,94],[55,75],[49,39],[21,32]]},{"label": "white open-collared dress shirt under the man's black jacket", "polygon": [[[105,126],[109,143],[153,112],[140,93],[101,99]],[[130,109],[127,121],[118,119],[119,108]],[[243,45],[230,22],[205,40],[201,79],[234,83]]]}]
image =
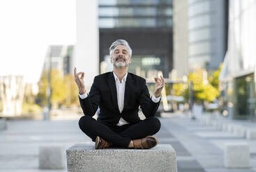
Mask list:
[{"label": "white open-collared dress shirt under the man's black jacket", "polygon": [[[114,74],[114,71],[113,71]],[[124,103],[124,91],[126,89],[126,78],[127,78],[127,74],[125,76],[123,76],[121,82],[119,80],[119,78],[117,78],[116,74],[114,74],[114,80],[116,81],[116,94],[117,94],[117,104],[119,107],[119,112],[121,113],[123,111],[123,103]],[[80,98],[84,99],[86,98],[88,95],[86,94],[86,92],[82,95],[80,95]],[[158,101],[160,101],[160,96],[158,98],[156,98],[154,95],[152,96],[151,100],[154,103],[158,103]],[[123,126],[125,124],[127,124],[128,122],[126,120],[124,120],[123,118],[120,118],[119,123],[116,124],[116,126]]]}]

